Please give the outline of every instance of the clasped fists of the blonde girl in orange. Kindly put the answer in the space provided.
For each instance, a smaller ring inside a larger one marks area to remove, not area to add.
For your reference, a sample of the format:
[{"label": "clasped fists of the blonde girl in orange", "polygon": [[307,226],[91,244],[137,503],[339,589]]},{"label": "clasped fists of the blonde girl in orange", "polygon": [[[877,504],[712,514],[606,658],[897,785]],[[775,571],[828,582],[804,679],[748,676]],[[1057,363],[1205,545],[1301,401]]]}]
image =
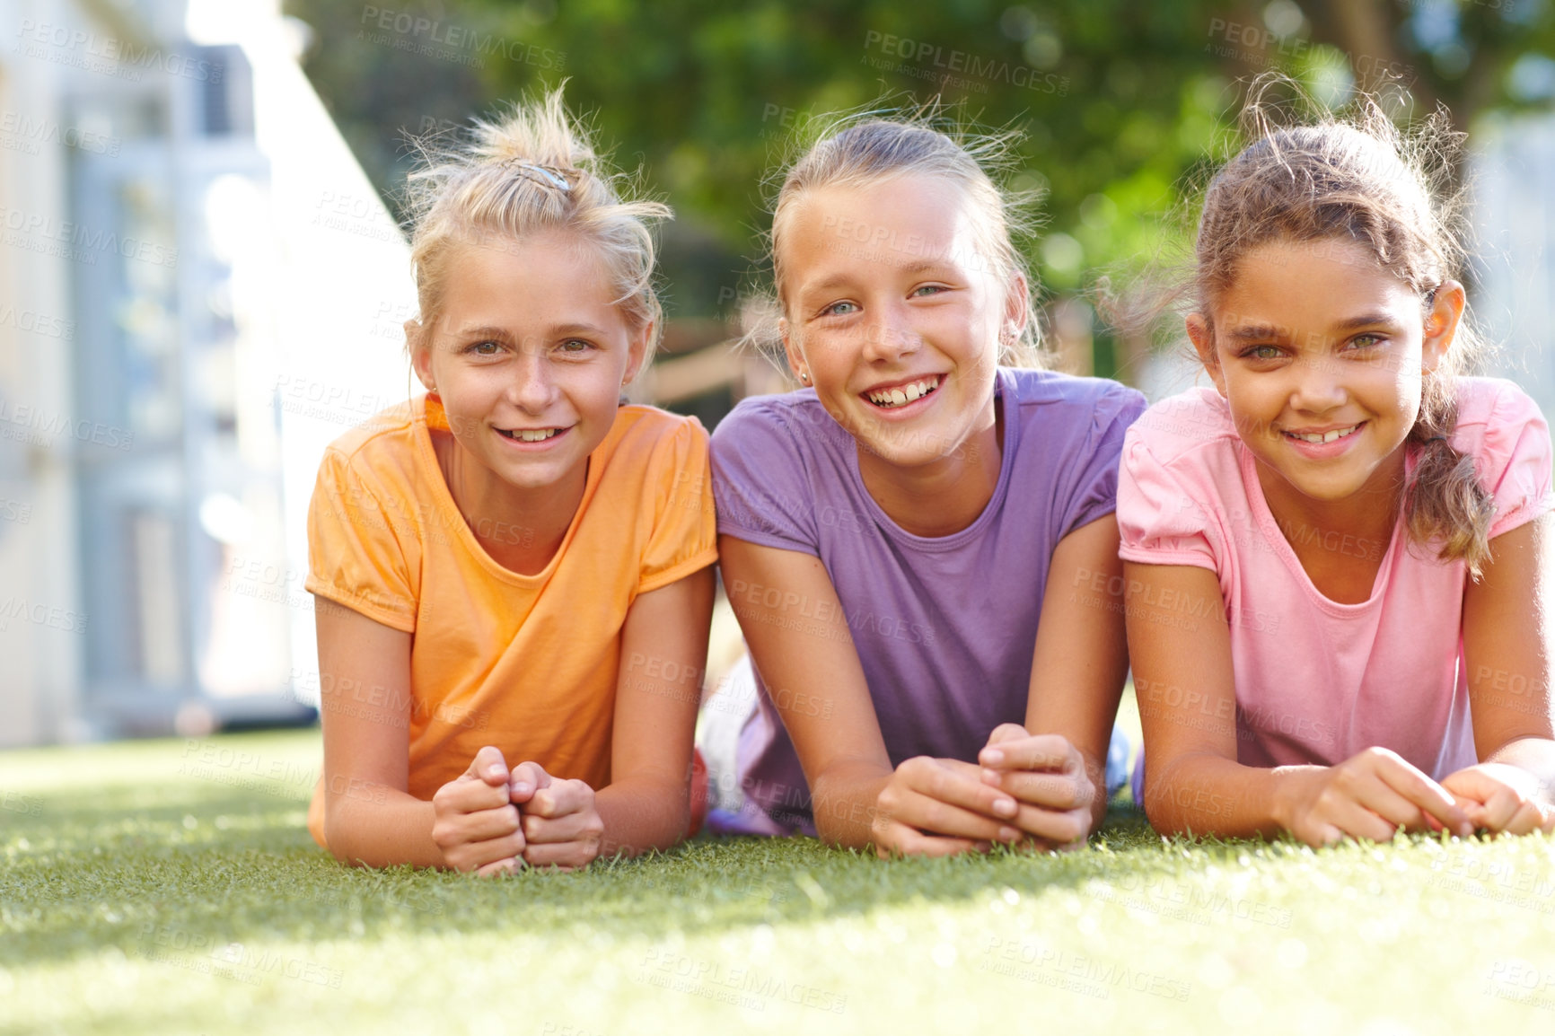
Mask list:
[{"label": "clasped fists of the blonde girl in orange", "polygon": [[515,874],[526,865],[588,866],[605,832],[586,782],[554,778],[538,762],[508,770],[491,745],[437,789],[432,810],[432,842],[448,866],[480,877]]}]

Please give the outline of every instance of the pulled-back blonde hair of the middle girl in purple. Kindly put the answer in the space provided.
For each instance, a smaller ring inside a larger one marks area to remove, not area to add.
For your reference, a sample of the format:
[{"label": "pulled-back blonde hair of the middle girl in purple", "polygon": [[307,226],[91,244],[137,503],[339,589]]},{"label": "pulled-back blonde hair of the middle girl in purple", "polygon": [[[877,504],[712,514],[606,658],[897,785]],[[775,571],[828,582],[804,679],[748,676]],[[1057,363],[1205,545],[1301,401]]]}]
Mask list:
[{"label": "pulled-back blonde hair of the middle girl in purple", "polygon": [[1001,278],[1022,275],[1026,282],[1026,325],[1020,339],[1001,342],[1000,361],[1040,367],[1042,333],[1037,320],[1036,278],[1015,247],[1015,233],[1031,233],[1034,219],[1026,215],[1033,191],[1005,191],[987,170],[1006,165],[1015,134],[975,135],[958,128],[939,129],[938,106],[897,112],[889,118],[877,112],[810,120],[805,126],[812,143],[782,177],[773,204],[770,254],[776,299],[765,306],[751,338],[771,341],[778,314],[787,316],[784,294],[782,243],[790,213],[807,193],[824,187],[865,187],[899,176],[935,176],[964,191],[978,219],[973,221],[980,255]]}]

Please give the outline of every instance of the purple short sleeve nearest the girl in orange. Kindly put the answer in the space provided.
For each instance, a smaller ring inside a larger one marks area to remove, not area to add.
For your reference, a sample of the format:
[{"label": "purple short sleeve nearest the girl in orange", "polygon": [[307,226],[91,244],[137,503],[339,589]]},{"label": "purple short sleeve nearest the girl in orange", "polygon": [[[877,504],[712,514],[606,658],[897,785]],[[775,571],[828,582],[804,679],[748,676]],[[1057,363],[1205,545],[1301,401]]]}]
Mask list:
[{"label": "purple short sleeve nearest the girl in orange", "polygon": [[815,495],[784,409],[764,398],[748,400],[712,434],[718,532],[818,555]]}]

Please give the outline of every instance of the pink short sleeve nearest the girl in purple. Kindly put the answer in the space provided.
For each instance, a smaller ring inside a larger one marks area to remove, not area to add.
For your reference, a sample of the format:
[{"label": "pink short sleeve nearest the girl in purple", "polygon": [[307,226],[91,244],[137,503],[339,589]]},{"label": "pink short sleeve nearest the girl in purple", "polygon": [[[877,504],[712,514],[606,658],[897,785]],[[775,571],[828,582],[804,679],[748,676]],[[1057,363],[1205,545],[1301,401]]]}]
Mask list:
[{"label": "pink short sleeve nearest the girl in purple", "polygon": [[1123,443],[1118,471],[1118,557],[1144,565],[1194,565],[1219,571],[1210,515],[1179,471],[1151,453],[1146,428]]}]

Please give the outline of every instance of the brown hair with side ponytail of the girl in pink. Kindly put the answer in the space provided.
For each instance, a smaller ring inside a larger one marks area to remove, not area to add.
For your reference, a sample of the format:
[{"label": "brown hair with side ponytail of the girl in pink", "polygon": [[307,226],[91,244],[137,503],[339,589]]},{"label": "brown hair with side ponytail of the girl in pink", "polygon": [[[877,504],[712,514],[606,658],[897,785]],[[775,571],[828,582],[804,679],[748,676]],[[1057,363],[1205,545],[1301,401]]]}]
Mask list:
[{"label": "brown hair with side ponytail of the girl in pink", "polygon": [[[1255,140],[1205,191],[1190,292],[1199,311],[1210,319],[1210,303],[1250,249],[1331,238],[1365,246],[1429,306],[1465,263],[1465,193],[1452,179],[1463,134],[1446,112],[1403,132],[1372,96],[1345,121],[1323,115],[1316,124],[1277,128],[1264,96],[1280,82],[1264,76],[1253,84],[1242,120]],[[1480,350],[1465,314],[1452,348],[1424,375],[1407,439],[1418,448],[1417,467],[1404,488],[1410,538],[1421,546],[1440,541],[1437,555],[1462,558],[1476,577],[1490,557],[1494,501],[1479,484],[1474,459],[1448,437],[1457,426],[1455,375]]]}]

